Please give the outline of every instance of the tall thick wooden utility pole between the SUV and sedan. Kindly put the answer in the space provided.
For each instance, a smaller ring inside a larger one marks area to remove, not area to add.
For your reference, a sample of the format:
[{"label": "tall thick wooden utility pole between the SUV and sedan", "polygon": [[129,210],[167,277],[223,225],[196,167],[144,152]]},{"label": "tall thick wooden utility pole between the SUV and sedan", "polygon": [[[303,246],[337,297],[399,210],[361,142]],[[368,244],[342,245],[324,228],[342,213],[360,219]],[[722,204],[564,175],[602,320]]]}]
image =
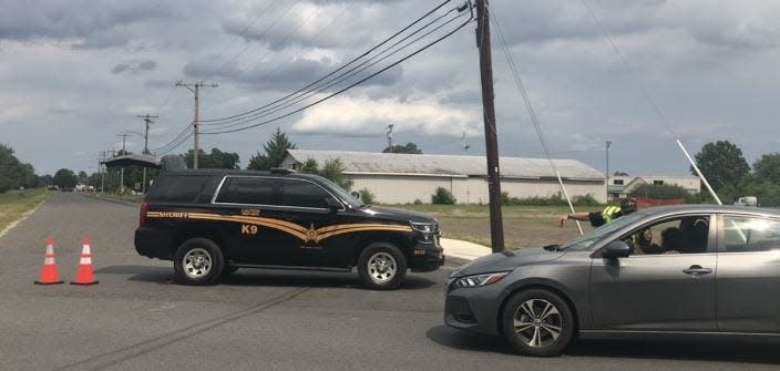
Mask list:
[{"label": "tall thick wooden utility pole between the SUV and sedan", "polygon": [[488,153],[488,190],[490,196],[490,239],[493,253],[504,250],[504,224],[501,214],[501,173],[499,171],[499,140],[493,105],[493,60],[490,48],[490,16],[488,0],[476,0],[476,48],[480,49],[482,79],[482,110],[485,123]]}]

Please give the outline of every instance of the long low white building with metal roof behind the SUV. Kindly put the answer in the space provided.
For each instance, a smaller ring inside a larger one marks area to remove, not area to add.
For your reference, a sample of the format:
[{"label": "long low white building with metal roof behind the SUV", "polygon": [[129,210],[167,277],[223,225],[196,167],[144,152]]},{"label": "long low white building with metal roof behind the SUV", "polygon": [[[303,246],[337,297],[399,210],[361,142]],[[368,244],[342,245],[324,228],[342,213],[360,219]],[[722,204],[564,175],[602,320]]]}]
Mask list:
[{"label": "long low white building with metal roof behind the SUV", "polygon": [[[319,166],[339,158],[352,189],[369,189],[378,203],[429,204],[438,187],[452,192],[458,203],[488,203],[486,159],[482,156],[412,155],[371,152],[288,150],[281,167],[299,169],[314,158]],[[605,177],[574,159],[554,159],[569,196],[606,199]],[[501,157],[501,190],[511,197],[548,197],[561,192],[550,162],[542,158]]]}]

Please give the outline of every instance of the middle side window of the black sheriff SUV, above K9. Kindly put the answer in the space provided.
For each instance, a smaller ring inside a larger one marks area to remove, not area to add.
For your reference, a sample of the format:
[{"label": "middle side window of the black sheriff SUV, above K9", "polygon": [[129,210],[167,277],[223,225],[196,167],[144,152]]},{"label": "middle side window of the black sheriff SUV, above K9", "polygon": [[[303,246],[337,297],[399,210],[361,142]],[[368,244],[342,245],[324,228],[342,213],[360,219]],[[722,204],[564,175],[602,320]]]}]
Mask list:
[{"label": "middle side window of the black sheriff SUV, above K9", "polygon": [[279,205],[281,181],[266,177],[232,177],[222,185],[217,203]]}]

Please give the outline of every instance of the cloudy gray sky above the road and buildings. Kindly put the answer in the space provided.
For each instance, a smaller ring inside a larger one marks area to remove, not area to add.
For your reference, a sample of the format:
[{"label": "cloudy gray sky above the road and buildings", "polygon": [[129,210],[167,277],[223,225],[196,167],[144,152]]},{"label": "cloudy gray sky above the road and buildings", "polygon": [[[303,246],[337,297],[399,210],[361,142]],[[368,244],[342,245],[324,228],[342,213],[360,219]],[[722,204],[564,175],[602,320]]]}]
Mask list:
[{"label": "cloudy gray sky above the road and buildings", "polygon": [[[202,91],[203,120],[242,114],[339,69],[440,3],[2,0],[0,143],[40,174],[61,167],[92,173],[101,151],[122,146],[117,133],[143,132],[136,115],[160,116],[150,132],[151,148],[185,130],[194,100],[174,86],[176,81],[218,84]],[[443,25],[398,54],[387,52],[384,64],[356,73],[352,81],[465,21],[448,13],[462,3],[452,1],[425,18],[431,28]],[[778,1],[493,0],[491,8],[502,156],[543,156],[504,47],[553,157],[604,169],[605,142],[612,141],[613,172],[686,174],[677,138],[691,154],[707,142],[731,141],[749,163],[780,147]],[[396,143],[462,154],[465,132],[468,153],[482,155],[474,28],[471,22],[308,110],[240,132],[202,135],[201,146],[236,152],[246,166],[278,126],[300,148],[378,152],[393,124]],[[342,84],[348,82],[345,78]],[[253,121],[204,122],[203,130],[264,123],[340,87],[318,86]],[[127,137],[129,151],[142,147],[141,136]],[[173,153],[189,147],[192,140]]]}]

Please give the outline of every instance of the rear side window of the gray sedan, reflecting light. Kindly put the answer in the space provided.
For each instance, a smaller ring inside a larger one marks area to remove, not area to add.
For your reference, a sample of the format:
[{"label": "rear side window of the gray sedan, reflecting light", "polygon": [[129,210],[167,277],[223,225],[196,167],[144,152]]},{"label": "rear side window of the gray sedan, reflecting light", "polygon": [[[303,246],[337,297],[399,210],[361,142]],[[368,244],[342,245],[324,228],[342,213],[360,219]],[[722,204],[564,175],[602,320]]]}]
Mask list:
[{"label": "rear side window of the gray sedan, reflecting light", "polygon": [[726,253],[756,253],[780,249],[780,221],[746,216],[723,216]]}]

